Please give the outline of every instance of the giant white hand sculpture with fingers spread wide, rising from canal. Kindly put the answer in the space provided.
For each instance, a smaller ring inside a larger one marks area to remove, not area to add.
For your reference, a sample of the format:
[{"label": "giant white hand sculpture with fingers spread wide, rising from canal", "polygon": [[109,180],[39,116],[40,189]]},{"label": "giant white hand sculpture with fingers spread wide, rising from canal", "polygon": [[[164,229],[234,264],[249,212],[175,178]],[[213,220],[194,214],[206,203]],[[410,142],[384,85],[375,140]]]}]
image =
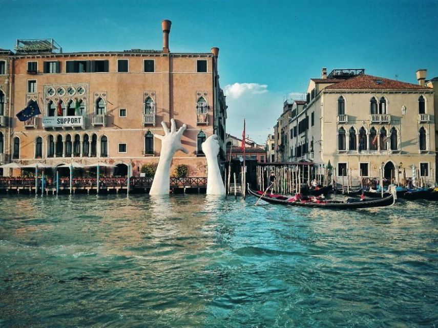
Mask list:
[{"label": "giant white hand sculpture with fingers spread wide, rising from canal", "polygon": [[185,152],[185,154],[189,153],[181,144],[181,136],[187,126],[183,124],[177,131],[175,120],[171,119],[171,130],[169,132],[166,123],[161,122],[161,125],[163,126],[164,136],[154,135],[155,138],[161,140],[161,153],[154,181],[149,191],[151,195],[169,194],[172,158],[178,150]]}]

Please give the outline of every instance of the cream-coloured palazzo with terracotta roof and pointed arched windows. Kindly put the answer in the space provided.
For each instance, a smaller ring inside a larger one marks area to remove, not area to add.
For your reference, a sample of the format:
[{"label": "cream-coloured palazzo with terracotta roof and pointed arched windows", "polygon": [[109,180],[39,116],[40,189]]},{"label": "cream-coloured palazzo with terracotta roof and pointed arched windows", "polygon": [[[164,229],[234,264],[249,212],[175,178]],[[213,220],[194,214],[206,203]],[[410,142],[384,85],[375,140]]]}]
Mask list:
[{"label": "cream-coloured palazzo with terracotta roof and pointed arched windows", "polygon": [[[336,169],[379,177],[383,167],[395,182],[407,178],[434,180],[434,92],[420,84],[366,75],[363,69],[333,70],[310,79],[306,104],[298,114],[297,160],[312,159]],[[418,180],[417,180],[418,181]],[[418,183],[417,183],[418,184]]]}]

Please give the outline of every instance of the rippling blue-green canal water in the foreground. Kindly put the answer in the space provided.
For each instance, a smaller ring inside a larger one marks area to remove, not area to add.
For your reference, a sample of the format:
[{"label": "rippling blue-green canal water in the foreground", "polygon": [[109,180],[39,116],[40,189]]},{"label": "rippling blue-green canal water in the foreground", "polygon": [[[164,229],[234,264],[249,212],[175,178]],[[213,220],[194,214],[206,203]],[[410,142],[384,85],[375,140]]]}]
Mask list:
[{"label": "rippling blue-green canal water in the foreground", "polygon": [[435,327],[438,205],[2,195],[0,327]]}]

